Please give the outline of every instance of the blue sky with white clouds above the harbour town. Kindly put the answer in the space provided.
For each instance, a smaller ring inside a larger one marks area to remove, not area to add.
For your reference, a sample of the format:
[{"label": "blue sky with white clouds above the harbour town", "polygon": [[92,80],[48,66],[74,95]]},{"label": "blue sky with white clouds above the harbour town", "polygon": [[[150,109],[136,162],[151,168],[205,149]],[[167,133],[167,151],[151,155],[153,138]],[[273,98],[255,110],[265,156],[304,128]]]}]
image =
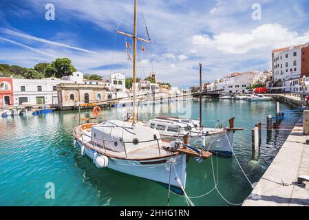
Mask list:
[{"label": "blue sky with white clouds above the harbour town", "polygon": [[[145,53],[138,45],[138,76],[153,71],[177,87],[198,85],[199,62],[204,80],[211,81],[231,72],[270,69],[271,50],[309,42],[308,0],[141,2],[153,43],[144,44]],[[54,21],[45,19],[47,3],[55,6]],[[261,20],[251,17],[254,3],[261,5]],[[67,57],[81,72],[131,76],[125,37],[115,30],[120,23],[119,30],[132,33],[133,4],[0,0],[0,63],[33,67]],[[147,39],[140,3],[138,9],[138,35]]]}]

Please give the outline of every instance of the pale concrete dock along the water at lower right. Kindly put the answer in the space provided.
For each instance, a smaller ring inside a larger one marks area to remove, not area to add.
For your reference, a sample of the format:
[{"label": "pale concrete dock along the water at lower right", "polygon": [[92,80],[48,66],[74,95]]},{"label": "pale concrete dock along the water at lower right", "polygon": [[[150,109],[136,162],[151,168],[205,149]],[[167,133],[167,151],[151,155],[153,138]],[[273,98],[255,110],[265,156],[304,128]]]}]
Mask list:
[{"label": "pale concrete dock along the water at lower right", "polygon": [[297,184],[299,175],[309,176],[308,139],[301,118],[242,206],[309,206],[309,182]]}]

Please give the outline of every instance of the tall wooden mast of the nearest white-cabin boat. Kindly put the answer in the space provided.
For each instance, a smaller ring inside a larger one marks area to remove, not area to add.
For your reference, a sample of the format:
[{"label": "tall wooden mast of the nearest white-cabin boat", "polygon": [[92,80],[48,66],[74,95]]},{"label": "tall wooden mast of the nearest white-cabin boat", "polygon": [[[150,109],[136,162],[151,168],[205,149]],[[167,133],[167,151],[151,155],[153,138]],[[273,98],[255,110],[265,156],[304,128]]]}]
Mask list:
[{"label": "tall wooden mast of the nearest white-cabin boat", "polygon": [[136,122],[136,23],[137,23],[137,13],[136,13],[137,3],[134,0],[134,30],[133,30],[133,122]]}]

